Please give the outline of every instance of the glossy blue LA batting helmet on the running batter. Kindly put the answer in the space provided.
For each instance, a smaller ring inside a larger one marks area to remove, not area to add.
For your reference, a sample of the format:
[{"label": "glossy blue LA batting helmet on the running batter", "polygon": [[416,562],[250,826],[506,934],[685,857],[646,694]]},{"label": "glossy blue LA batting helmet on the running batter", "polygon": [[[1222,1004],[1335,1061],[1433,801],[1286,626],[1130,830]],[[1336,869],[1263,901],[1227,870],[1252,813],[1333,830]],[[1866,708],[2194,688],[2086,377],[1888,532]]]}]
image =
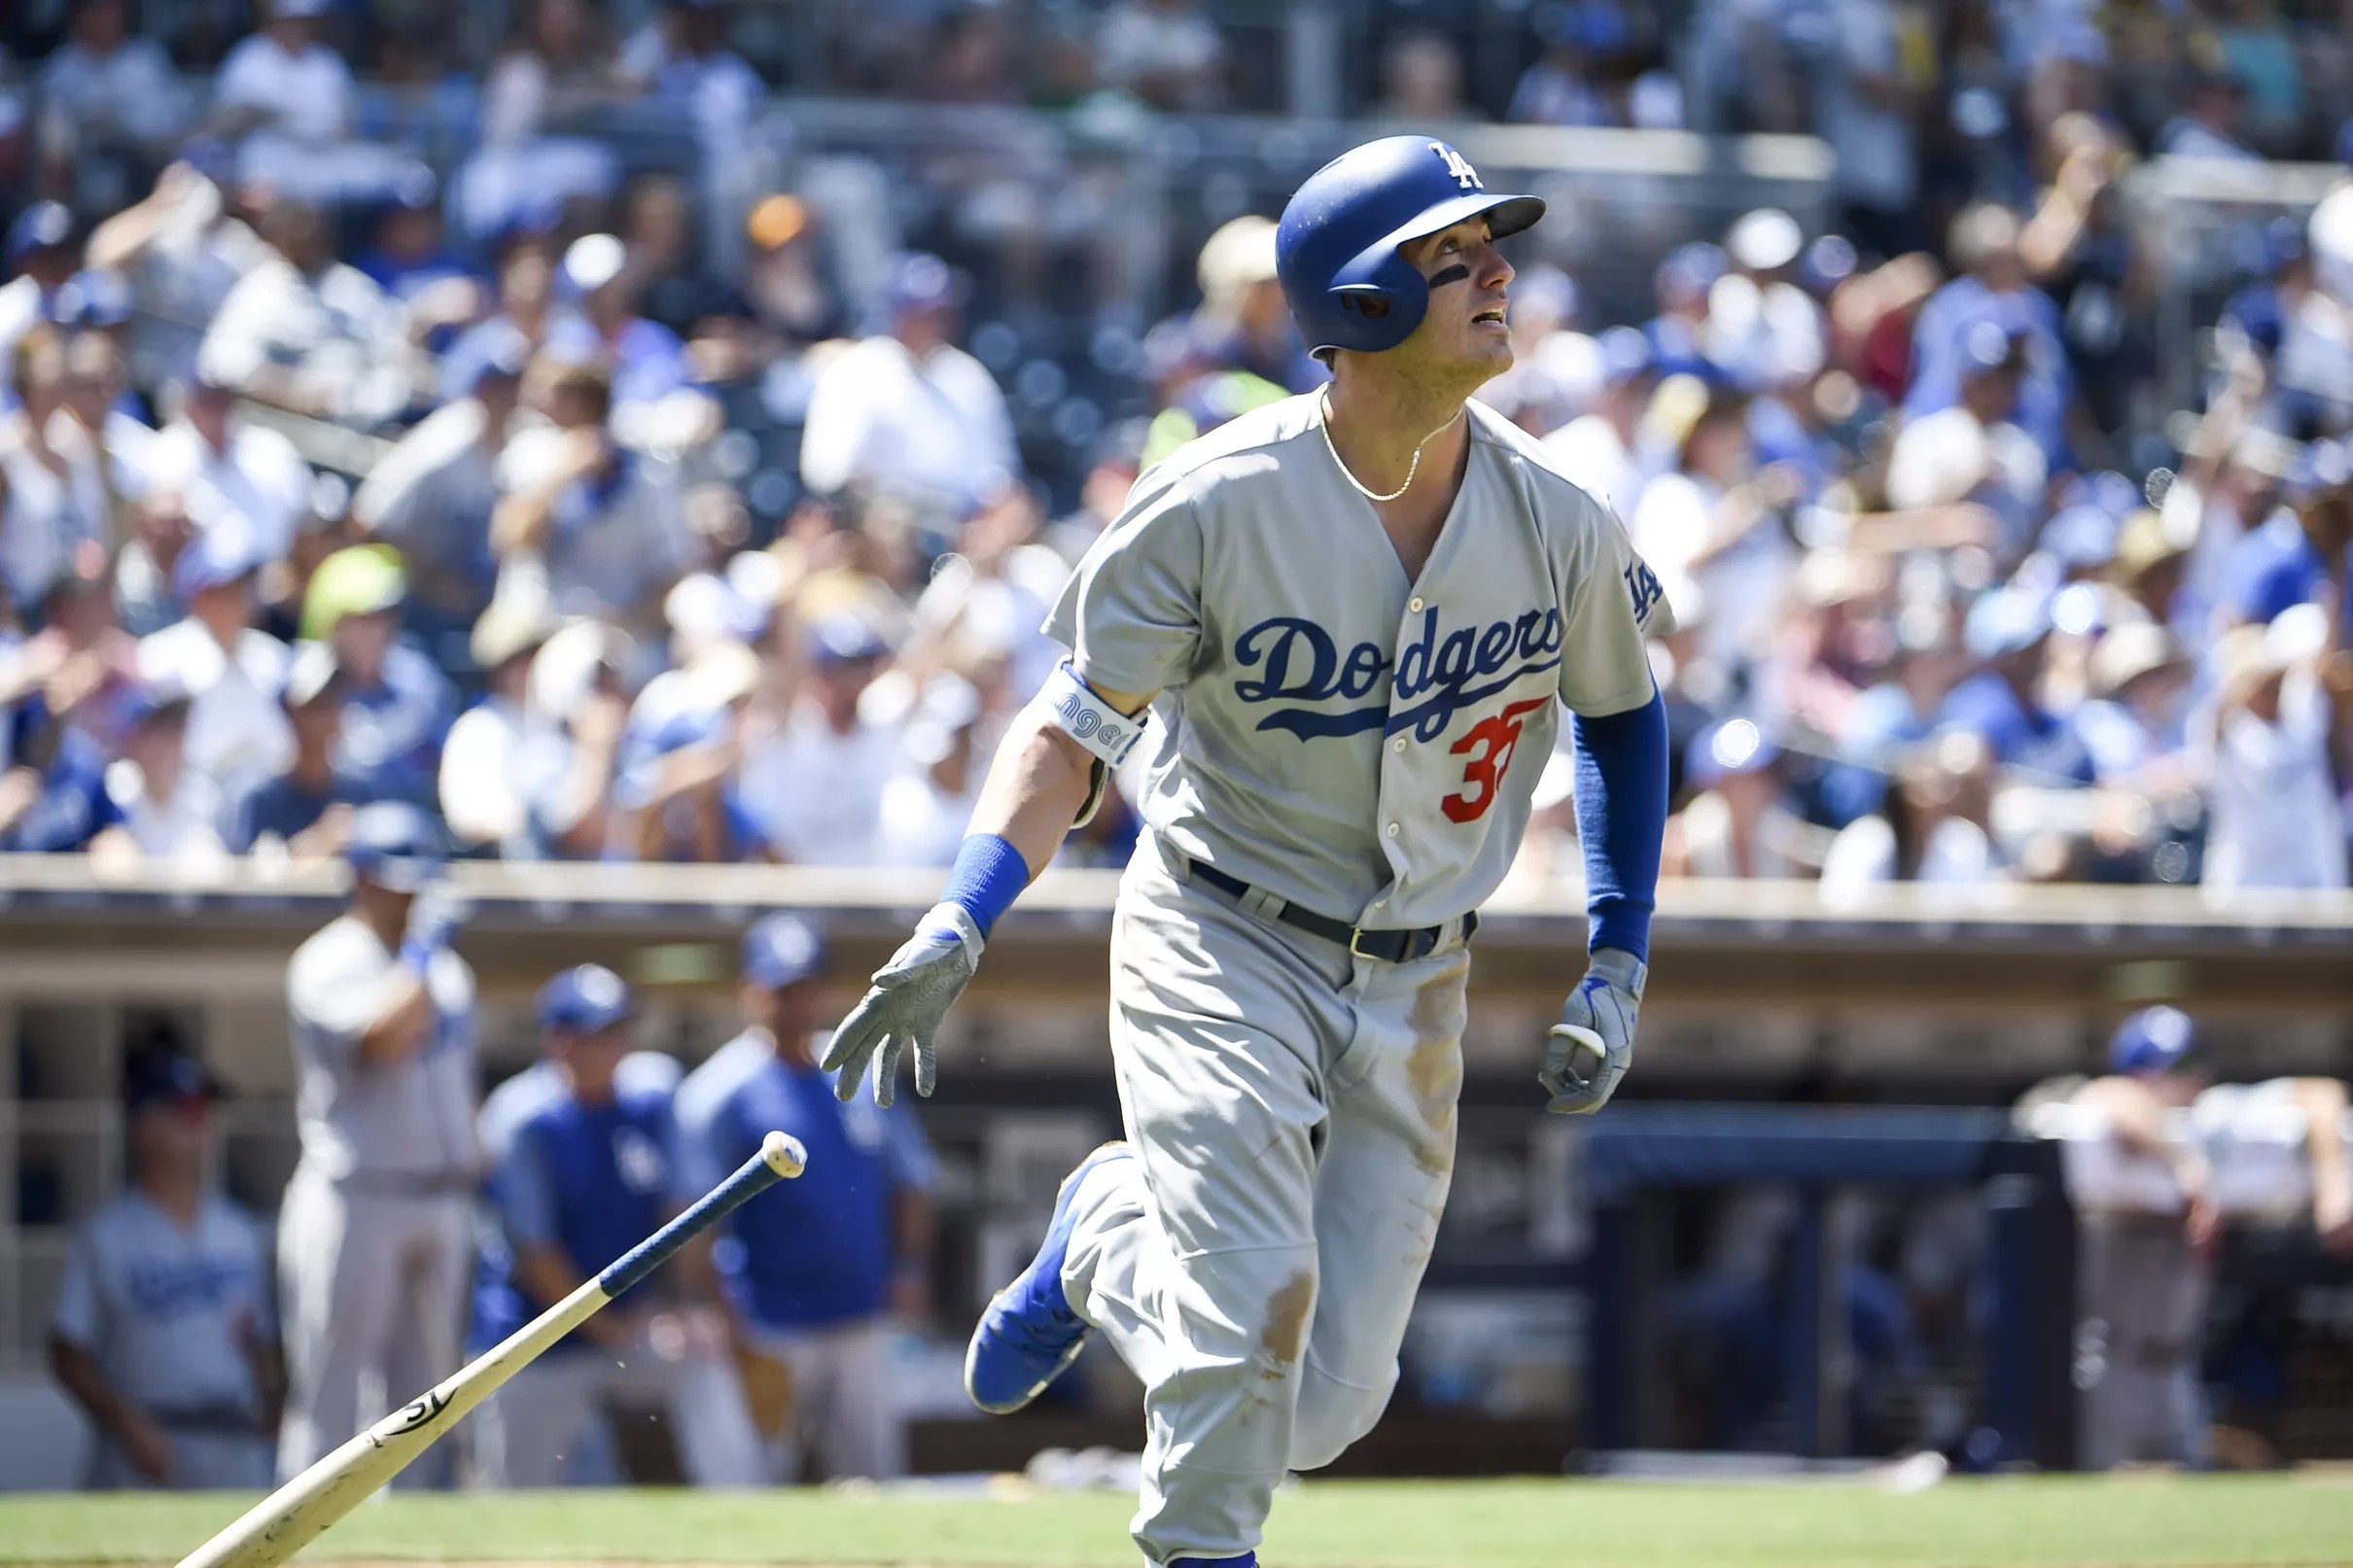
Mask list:
[{"label": "glossy blue LA batting helmet on the running batter", "polygon": [[1275,228],[1275,275],[1308,350],[1379,353],[1414,336],[1431,282],[1398,247],[1482,214],[1501,240],[1541,219],[1544,202],[1487,190],[1431,136],[1381,136],[1308,174]]}]

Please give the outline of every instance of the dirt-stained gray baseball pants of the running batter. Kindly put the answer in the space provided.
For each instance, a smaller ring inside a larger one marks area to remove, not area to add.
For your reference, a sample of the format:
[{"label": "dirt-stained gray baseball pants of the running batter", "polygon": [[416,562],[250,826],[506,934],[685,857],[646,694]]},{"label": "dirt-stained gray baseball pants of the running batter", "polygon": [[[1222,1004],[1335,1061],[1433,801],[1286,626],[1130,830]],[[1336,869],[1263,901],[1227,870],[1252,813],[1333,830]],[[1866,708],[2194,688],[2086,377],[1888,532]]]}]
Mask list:
[{"label": "dirt-stained gray baseball pants of the running batter", "polygon": [[1146,1389],[1134,1537],[1257,1549],[1289,1469],[1365,1436],[1454,1173],[1459,936],[1351,957],[1181,884],[1151,839],[1111,936],[1134,1161],[1075,1194],[1064,1288]]}]

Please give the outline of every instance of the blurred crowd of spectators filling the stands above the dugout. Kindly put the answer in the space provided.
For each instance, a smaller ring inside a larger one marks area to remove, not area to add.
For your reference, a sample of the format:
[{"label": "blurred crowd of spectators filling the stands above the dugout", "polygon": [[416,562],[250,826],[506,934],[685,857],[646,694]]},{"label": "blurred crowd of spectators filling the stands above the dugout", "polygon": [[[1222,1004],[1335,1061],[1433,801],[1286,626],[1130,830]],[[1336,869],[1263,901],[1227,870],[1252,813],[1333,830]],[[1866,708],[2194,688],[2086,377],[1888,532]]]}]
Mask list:
[{"label": "blurred crowd of spectators filling the stands above the dugout", "polygon": [[[1668,870],[2346,884],[2353,195],[2245,223],[2177,411],[2122,193],[2334,158],[2334,9],[1374,21],[1341,80],[1381,118],[1835,155],[1828,226],[1694,233],[1647,313],[1527,256],[1485,393],[1678,609]],[[402,799],[482,856],[944,865],[1139,468],[1322,376],[1271,221],[1144,299],[1174,228],[1087,158],[1261,106],[1264,35],[1200,0],[805,38],[708,0],[49,0],[0,38],[9,849],[308,860]],[[466,155],[374,87],[456,103]],[[779,160],[779,87],[1073,129]],[[680,167],[633,162],[640,110]],[[1539,804],[1520,875],[1574,877],[1565,757]]]}]

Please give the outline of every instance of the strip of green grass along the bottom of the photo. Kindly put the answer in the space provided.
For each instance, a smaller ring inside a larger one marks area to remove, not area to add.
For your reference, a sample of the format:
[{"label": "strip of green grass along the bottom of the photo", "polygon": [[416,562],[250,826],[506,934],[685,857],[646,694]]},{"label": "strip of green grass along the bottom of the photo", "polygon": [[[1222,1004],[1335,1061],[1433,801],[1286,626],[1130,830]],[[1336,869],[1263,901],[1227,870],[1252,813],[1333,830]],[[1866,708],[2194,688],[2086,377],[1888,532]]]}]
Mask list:
[{"label": "strip of green grass along the bottom of the photo", "polygon": [[[5,1563],[172,1563],[235,1497],[0,1497]],[[1134,1568],[1108,1493],[539,1493],[362,1507],[299,1561]],[[2353,1479],[1351,1483],[1278,1500],[1268,1568],[2353,1566]]]}]

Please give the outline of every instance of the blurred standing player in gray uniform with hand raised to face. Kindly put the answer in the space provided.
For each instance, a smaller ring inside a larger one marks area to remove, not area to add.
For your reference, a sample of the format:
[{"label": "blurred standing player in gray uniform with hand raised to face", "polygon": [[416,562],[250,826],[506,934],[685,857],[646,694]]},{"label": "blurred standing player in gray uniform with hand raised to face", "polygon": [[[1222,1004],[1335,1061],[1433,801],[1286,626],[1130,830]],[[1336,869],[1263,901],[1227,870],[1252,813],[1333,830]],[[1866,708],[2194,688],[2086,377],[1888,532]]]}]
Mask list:
[{"label": "blurred standing player in gray uniform with hand raised to face", "polygon": [[287,966],[301,1161],[278,1211],[282,1476],[374,1415],[362,1382],[402,1401],[456,1371],[473,1255],[473,971],[449,952],[440,830],[402,802],[362,806],[344,858],[351,907]]}]

